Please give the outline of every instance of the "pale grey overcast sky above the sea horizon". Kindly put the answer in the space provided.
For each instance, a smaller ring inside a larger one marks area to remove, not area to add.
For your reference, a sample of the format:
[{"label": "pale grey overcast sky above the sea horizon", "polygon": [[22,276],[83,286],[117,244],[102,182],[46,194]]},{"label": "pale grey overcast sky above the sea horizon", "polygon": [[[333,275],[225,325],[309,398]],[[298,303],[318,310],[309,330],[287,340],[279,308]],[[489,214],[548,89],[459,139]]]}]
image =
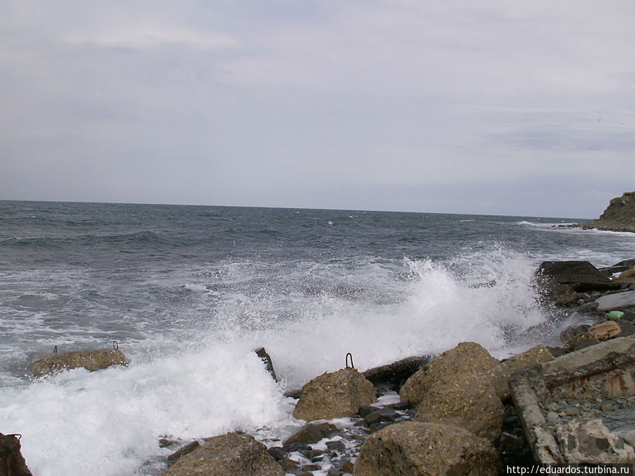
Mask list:
[{"label": "pale grey overcast sky above the sea horizon", "polygon": [[599,216],[630,0],[2,1],[0,199]]}]

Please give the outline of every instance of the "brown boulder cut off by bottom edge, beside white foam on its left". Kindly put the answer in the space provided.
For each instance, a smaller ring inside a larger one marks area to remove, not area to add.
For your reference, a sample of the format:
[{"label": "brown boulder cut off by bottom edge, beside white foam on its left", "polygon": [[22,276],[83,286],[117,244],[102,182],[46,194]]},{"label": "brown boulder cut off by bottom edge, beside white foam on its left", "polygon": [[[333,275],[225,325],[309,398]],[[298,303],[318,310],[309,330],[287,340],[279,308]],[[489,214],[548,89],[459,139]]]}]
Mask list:
[{"label": "brown boulder cut off by bottom edge, beside white foam on its left", "polygon": [[284,476],[267,447],[251,437],[228,433],[213,437],[179,458],[164,476]]}]

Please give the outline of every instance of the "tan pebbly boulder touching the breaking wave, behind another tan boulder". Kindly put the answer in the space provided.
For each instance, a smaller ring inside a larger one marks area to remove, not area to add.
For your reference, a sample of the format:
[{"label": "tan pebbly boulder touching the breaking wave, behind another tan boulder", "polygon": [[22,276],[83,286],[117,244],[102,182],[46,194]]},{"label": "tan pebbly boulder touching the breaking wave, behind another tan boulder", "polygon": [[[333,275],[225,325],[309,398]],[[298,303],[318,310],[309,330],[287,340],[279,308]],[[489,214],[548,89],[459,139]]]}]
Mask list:
[{"label": "tan pebbly boulder touching the breaking wave, behind another tan boulder", "polygon": [[399,390],[399,396],[418,405],[434,382],[453,380],[458,374],[485,374],[497,365],[498,360],[480,344],[461,342],[413,374]]}]

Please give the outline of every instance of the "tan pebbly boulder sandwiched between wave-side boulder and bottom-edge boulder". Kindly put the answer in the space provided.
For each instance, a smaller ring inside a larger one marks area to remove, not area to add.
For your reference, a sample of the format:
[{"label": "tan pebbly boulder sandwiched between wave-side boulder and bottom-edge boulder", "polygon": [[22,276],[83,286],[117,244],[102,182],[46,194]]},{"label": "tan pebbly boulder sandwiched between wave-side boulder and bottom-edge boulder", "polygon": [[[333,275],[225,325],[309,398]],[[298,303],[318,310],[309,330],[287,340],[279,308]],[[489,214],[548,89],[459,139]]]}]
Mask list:
[{"label": "tan pebbly boulder sandwiched between wave-side boulder and bottom-edge boulder", "polygon": [[457,374],[434,382],[417,406],[416,422],[441,422],[464,427],[495,441],[500,436],[504,408],[490,377]]}]

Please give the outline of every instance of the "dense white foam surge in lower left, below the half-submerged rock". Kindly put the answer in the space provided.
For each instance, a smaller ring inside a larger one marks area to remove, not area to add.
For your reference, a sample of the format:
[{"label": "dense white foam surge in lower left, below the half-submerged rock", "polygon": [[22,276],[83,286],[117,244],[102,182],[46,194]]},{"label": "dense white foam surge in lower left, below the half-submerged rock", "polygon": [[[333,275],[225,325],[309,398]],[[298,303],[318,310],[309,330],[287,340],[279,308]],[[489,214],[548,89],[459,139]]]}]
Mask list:
[{"label": "dense white foam surge in lower left, below the half-submerged rock", "polygon": [[23,435],[34,474],[130,475],[167,453],[158,446],[162,435],[284,427],[291,422],[286,400],[251,349],[234,342],[3,389],[0,427]]}]

